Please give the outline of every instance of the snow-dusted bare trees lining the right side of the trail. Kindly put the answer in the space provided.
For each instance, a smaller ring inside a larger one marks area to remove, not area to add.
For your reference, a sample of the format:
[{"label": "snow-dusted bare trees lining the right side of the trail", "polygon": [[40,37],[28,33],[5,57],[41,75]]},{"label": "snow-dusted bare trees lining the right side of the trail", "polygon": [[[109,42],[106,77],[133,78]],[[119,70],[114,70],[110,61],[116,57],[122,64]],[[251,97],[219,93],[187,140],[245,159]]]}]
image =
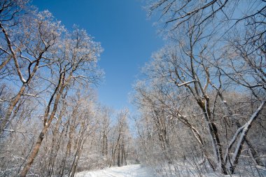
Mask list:
[{"label": "snow-dusted bare trees lining the right side of the trail", "polygon": [[144,67],[134,102],[142,160],[161,176],[265,167],[265,5],[148,1],[167,44]]}]

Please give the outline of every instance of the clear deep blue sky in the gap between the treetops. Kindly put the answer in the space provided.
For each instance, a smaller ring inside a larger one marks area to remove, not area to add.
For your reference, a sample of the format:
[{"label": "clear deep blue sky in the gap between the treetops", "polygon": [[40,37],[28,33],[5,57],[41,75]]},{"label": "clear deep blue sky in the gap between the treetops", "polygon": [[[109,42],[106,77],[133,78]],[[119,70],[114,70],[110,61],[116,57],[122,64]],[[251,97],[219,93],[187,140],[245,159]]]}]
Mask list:
[{"label": "clear deep blue sky in the gap between the treetops", "polygon": [[99,85],[99,101],[115,108],[132,106],[128,93],[140,69],[162,46],[153,21],[147,20],[139,0],[33,0],[39,10],[49,10],[68,29],[73,24],[86,29],[104,52],[99,66],[104,83]]}]

